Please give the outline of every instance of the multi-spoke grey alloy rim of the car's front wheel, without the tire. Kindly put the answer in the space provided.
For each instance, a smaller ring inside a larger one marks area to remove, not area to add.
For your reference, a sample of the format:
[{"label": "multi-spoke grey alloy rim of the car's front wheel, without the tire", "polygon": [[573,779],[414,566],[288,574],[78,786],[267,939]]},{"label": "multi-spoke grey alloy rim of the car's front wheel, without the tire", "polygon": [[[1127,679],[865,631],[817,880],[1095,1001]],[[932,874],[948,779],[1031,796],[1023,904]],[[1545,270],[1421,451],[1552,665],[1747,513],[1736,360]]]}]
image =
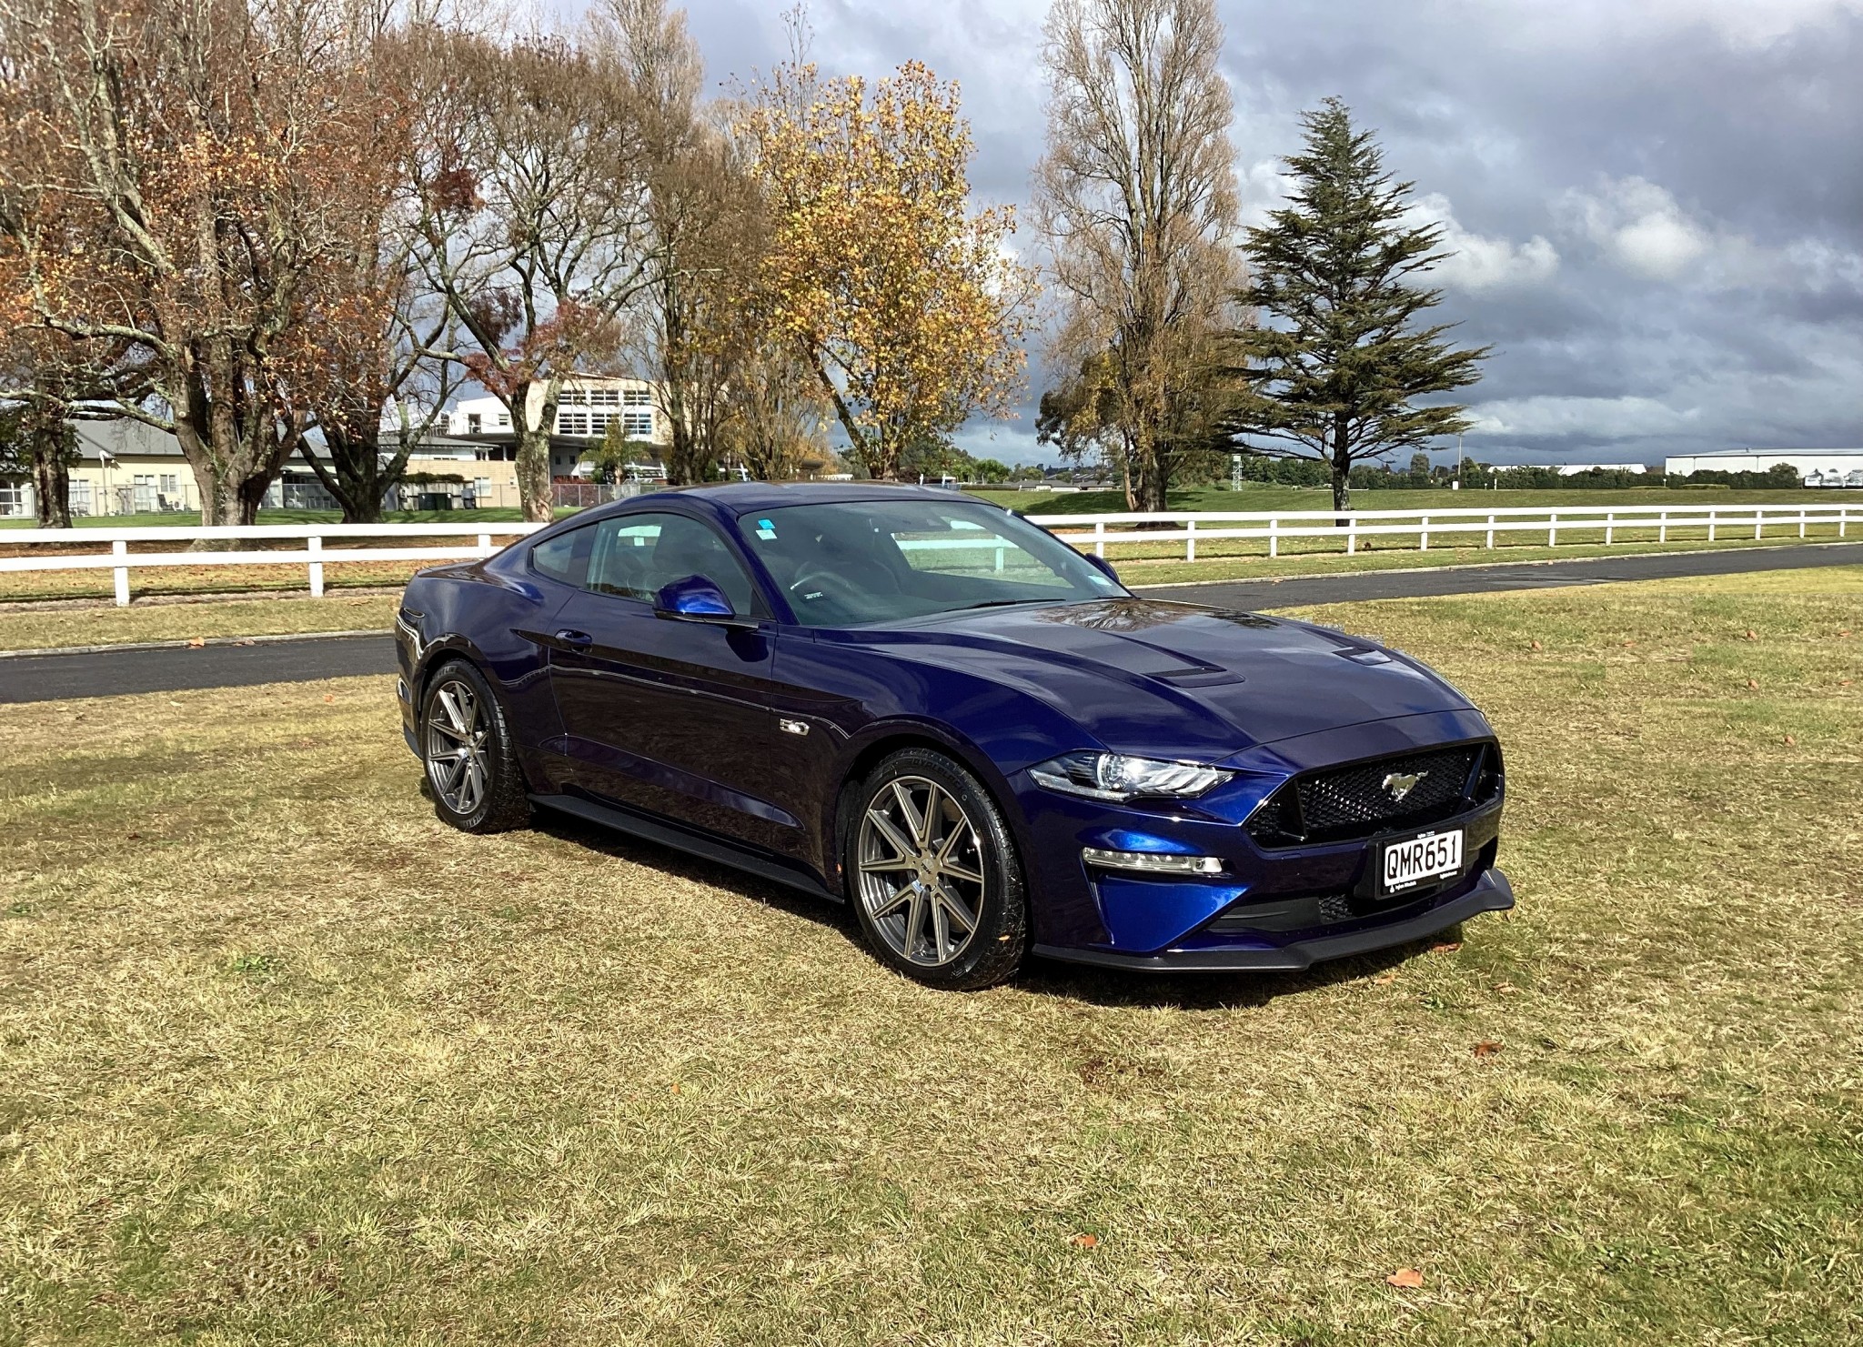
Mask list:
[{"label": "multi-spoke grey alloy rim of the car's front wheel, without the tire", "polygon": [[857,848],[866,915],[892,952],[941,967],[976,935],[984,848],[952,794],[926,777],[896,777],[866,803]]}]

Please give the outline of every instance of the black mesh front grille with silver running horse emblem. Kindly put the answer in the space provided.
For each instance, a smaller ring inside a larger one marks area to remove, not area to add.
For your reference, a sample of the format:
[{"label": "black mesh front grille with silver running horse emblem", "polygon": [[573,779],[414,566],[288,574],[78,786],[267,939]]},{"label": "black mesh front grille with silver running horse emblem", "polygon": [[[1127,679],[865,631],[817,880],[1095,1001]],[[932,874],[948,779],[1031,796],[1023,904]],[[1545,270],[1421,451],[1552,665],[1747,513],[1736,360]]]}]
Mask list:
[{"label": "black mesh front grille with silver running horse emblem", "polygon": [[[1399,799],[1405,777],[1416,781]],[[1461,743],[1295,777],[1250,816],[1248,835],[1261,846],[1343,842],[1453,818],[1498,794],[1498,751]]]}]

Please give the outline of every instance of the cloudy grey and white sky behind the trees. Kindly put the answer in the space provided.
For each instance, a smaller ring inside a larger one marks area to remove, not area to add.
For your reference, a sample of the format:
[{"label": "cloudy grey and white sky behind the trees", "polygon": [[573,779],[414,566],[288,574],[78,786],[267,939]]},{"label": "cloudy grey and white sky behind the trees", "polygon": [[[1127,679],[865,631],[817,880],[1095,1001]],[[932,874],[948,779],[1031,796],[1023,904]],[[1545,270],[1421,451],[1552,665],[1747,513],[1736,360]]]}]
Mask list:
[{"label": "cloudy grey and white sky behind the trees", "polygon": [[[1863,445],[1863,0],[1218,0],[1259,220],[1328,93],[1457,248],[1444,309],[1496,356],[1468,453],[1649,462]],[[784,0],[689,0],[714,80],[784,52]],[[1041,153],[1043,0],[814,0],[827,75],[918,58],[963,86],[972,188]],[[1025,248],[1034,238],[1021,237]],[[1043,373],[974,453],[1045,455]],[[1453,445],[1451,445],[1453,453]]]}]

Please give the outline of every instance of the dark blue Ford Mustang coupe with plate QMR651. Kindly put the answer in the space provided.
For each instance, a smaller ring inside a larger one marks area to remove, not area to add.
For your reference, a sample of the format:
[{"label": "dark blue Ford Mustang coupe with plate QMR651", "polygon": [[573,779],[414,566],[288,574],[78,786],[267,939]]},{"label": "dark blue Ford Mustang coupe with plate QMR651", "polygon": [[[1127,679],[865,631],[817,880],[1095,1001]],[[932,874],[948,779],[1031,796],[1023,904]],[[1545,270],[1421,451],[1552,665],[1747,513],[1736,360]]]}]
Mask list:
[{"label": "dark blue Ford Mustang coupe with plate QMR651", "polygon": [[1302,969],[1513,905],[1500,745],[1440,676],[1135,596],[950,492],[641,496],[421,572],[397,626],[440,818],[553,809],[846,900],[933,986]]}]

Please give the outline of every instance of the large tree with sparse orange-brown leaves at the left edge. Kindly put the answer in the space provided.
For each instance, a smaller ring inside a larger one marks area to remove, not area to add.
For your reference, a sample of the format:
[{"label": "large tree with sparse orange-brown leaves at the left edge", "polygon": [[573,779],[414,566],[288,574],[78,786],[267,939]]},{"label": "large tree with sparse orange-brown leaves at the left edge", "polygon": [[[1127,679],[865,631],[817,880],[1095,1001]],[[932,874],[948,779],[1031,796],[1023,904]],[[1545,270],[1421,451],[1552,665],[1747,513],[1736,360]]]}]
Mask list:
[{"label": "large tree with sparse orange-brown leaves at the left edge", "polygon": [[116,410],[175,434],[205,524],[252,524],[302,442],[311,279],[399,158],[345,32],[326,0],[0,0],[32,322],[138,365]]}]

